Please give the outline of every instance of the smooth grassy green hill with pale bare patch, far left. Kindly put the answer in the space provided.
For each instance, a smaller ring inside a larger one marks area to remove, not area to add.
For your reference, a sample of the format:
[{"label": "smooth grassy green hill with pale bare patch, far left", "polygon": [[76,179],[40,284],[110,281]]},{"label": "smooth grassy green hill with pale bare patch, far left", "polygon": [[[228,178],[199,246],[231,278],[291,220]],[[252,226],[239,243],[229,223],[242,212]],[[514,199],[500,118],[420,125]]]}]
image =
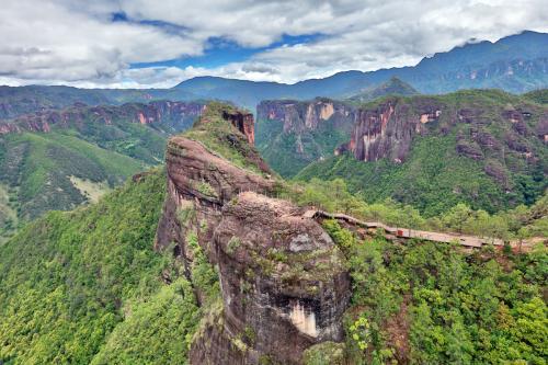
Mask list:
[{"label": "smooth grassy green hill with pale bare patch, far left", "polygon": [[59,133],[9,135],[0,145],[0,180],[12,187],[23,220],[85,202],[70,182],[71,175],[112,187],[145,167],[130,157]]}]

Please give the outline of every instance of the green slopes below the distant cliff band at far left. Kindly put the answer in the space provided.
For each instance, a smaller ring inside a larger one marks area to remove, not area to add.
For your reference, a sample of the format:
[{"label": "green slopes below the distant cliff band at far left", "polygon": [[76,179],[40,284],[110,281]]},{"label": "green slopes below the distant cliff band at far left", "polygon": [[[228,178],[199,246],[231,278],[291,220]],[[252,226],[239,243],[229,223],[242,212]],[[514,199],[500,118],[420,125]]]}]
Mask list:
[{"label": "green slopes below the distant cliff band at far left", "polygon": [[[20,220],[87,202],[70,176],[89,181],[94,187],[114,187],[147,166],[162,163],[167,133],[161,127],[124,118],[105,125],[94,118],[88,113],[69,128],[54,126],[47,134],[0,137],[0,182],[11,187]],[[5,209],[2,204],[0,210]],[[0,240],[14,226],[0,215]]]}]

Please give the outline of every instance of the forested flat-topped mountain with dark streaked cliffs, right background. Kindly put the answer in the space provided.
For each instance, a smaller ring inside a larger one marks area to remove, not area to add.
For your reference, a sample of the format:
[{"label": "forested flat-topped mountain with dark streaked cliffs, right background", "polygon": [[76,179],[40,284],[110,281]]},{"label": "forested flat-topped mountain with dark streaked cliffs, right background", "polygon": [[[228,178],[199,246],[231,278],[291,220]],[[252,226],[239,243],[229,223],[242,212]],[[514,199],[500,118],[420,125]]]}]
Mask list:
[{"label": "forested flat-topped mountain with dark streaked cliffs, right background", "polygon": [[297,179],[343,178],[374,202],[392,197],[427,216],[459,202],[496,212],[547,187],[548,109],[495,90],[385,98],[357,111],[335,155]]}]

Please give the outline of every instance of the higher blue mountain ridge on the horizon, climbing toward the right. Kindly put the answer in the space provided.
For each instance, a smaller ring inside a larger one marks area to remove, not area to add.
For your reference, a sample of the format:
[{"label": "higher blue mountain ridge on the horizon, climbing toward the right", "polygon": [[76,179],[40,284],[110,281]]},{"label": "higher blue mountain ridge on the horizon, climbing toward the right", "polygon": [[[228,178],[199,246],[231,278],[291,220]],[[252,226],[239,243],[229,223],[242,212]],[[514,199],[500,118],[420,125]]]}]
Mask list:
[{"label": "higher blue mountain ridge on the horizon, climbing toward the right", "polygon": [[495,43],[468,43],[423,58],[416,66],[370,72],[345,71],[295,84],[198,77],[175,88],[201,98],[228,99],[248,107],[266,99],[346,99],[392,77],[421,93],[496,88],[521,93],[548,85],[548,34],[523,32]]}]

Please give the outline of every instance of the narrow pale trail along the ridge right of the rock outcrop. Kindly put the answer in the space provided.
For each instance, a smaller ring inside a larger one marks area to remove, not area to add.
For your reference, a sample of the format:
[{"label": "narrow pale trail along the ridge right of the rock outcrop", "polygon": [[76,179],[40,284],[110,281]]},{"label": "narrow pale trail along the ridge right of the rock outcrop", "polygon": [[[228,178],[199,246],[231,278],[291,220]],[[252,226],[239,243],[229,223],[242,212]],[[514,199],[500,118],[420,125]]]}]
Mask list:
[{"label": "narrow pale trail along the ridge right of the rock outcrop", "polygon": [[[411,239],[411,238],[418,238],[422,240],[427,240],[427,241],[436,241],[436,242],[457,242],[461,246],[469,247],[469,248],[481,248],[483,244],[492,244],[492,246],[498,246],[502,247],[504,246],[504,241],[499,239],[499,238],[493,238],[493,237],[477,237],[477,236],[468,236],[468,235],[457,235],[457,233],[442,233],[442,232],[432,232],[432,231],[425,231],[425,230],[415,230],[415,229],[410,229],[410,228],[401,228],[401,227],[390,227],[387,226],[380,221],[364,221],[359,220],[355,217],[341,214],[341,213],[328,213],[323,210],[307,210],[304,214],[305,217],[307,218],[328,218],[328,219],[336,219],[336,220],[343,220],[350,225],[353,226],[359,226],[363,228],[367,229],[376,229],[376,228],[383,228],[387,233],[391,235],[393,239],[396,238],[403,238],[403,239]],[[545,241],[546,239],[543,238],[533,238],[530,240],[524,240],[522,241],[521,247],[523,249],[530,248],[534,243]],[[518,248],[520,247],[520,241],[511,241],[510,242],[511,247],[513,248]]]}]

